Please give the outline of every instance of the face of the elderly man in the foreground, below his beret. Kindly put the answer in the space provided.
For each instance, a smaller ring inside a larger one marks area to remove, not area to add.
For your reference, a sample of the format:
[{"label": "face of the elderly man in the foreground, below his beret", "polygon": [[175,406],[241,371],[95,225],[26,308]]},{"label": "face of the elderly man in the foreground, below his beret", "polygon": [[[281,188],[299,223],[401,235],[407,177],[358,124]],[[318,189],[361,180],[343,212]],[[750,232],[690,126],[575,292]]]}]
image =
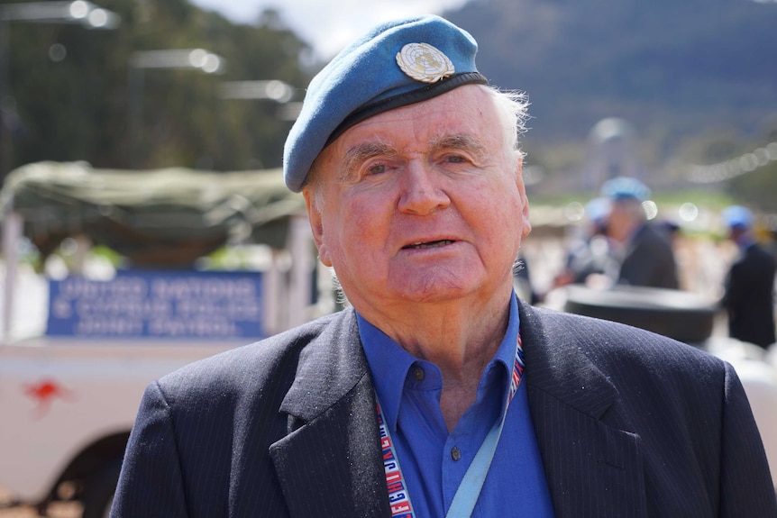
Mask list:
[{"label": "face of the elderly man in the foreground, below his beret", "polygon": [[308,214],[321,261],[357,310],[474,304],[511,289],[531,226],[504,136],[489,95],[461,86],[371,117],[322,152]]}]

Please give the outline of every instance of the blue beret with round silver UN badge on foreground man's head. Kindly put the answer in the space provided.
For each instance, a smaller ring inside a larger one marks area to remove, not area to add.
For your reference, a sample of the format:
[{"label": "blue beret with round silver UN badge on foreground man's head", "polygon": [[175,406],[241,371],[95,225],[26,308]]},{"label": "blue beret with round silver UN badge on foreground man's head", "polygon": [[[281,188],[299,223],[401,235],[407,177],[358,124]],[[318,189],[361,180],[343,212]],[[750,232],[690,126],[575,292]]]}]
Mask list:
[{"label": "blue beret with round silver UN badge on foreground man's head", "polygon": [[434,15],[383,23],[354,41],[307,88],[283,150],[288,188],[302,190],[318,154],[353,125],[457,86],[487,84],[477,51],[469,32]]}]

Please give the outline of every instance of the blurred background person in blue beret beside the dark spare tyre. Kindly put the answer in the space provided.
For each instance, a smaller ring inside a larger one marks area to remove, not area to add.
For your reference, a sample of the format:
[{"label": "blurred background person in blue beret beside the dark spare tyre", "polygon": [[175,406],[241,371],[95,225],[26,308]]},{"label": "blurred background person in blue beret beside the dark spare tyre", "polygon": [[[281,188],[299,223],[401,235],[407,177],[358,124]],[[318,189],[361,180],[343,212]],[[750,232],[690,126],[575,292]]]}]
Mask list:
[{"label": "blurred background person in blue beret beside the dark spare tyre", "polygon": [[647,221],[643,203],[650,189],[632,177],[615,177],[601,187],[610,200],[607,221],[619,285],[678,289],[677,263],[666,232]]}]

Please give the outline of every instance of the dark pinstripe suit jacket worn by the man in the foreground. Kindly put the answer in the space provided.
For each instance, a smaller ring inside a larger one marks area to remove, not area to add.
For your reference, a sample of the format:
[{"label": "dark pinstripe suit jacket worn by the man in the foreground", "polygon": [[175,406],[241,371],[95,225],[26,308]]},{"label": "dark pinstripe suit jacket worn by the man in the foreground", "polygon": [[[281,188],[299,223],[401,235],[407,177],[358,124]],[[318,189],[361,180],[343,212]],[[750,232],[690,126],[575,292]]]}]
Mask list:
[{"label": "dark pinstripe suit jacket worn by the man in the foreground", "polygon": [[[520,315],[529,404],[557,517],[777,516],[733,368],[620,324],[526,304]],[[352,310],[151,384],[113,511],[389,515],[373,386]]]}]

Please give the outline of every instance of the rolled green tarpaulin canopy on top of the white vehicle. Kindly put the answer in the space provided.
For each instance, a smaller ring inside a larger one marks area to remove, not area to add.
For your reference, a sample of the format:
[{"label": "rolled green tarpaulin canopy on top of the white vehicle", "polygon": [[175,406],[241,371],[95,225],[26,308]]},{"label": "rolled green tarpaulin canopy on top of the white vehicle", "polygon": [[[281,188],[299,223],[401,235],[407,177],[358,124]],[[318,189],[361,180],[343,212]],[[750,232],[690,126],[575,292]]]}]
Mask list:
[{"label": "rolled green tarpaulin canopy on top of the white vehicle", "polygon": [[187,168],[95,169],[80,162],[33,163],[5,179],[3,214],[23,216],[24,235],[45,257],[86,235],[134,264],[190,265],[226,243],[282,248],[302,195],[280,169],[205,172]]}]

